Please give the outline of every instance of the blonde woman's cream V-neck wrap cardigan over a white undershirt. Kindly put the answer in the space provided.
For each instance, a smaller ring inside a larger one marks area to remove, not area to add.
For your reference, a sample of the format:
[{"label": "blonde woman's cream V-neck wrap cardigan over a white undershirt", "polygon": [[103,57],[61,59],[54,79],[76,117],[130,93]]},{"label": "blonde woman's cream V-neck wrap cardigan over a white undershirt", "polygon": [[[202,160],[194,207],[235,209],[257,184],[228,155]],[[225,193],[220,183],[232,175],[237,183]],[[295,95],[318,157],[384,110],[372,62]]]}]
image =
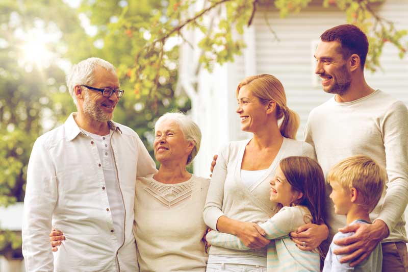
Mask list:
[{"label": "blonde woman's cream V-neck wrap cardigan over a white undershirt", "polygon": [[[248,142],[249,140],[230,142],[218,153],[203,212],[205,222],[214,230],[218,218],[223,215],[245,222],[268,220],[278,211],[277,204],[269,200],[269,181],[273,178],[279,161],[289,156],[314,158],[314,150],[310,144],[284,138],[281,149],[265,175],[249,190],[240,178],[242,157]],[[220,246],[210,248],[210,255],[241,254],[241,251]],[[260,251],[250,250],[246,254],[266,257],[266,248]]]}]

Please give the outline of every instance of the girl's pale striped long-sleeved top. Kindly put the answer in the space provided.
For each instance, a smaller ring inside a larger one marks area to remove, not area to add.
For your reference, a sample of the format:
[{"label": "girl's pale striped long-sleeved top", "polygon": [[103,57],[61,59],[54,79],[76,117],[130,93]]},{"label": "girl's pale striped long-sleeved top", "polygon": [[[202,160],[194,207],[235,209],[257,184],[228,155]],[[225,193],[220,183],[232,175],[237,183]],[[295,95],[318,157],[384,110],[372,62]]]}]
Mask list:
[{"label": "girl's pale striped long-sleeved top", "polygon": [[[319,253],[300,250],[289,237],[289,233],[310,223],[311,218],[307,207],[283,207],[269,220],[260,224],[265,230],[265,238],[272,240],[268,245],[268,271],[320,271]],[[209,232],[207,241],[223,248],[249,250],[237,236],[218,231]]]}]

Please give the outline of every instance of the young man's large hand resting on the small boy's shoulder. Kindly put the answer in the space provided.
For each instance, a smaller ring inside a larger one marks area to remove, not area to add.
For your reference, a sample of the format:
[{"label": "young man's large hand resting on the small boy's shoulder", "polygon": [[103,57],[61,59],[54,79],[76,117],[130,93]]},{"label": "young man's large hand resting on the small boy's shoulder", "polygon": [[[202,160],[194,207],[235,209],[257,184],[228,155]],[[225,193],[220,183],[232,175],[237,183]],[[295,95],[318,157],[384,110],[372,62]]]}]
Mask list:
[{"label": "young man's large hand resting on the small boy's shoulder", "polygon": [[343,248],[335,250],[334,254],[347,256],[340,259],[341,263],[350,262],[353,267],[364,261],[377,244],[389,235],[387,225],[382,220],[376,220],[374,224],[353,224],[339,229],[343,233],[355,232],[350,237],[335,240],[337,245],[344,245]]}]

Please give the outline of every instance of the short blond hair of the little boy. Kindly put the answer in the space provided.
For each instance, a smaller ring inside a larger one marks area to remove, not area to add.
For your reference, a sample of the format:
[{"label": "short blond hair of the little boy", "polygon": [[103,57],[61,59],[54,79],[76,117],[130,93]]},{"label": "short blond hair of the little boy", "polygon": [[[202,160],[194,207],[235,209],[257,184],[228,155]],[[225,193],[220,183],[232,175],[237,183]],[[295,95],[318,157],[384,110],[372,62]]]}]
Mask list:
[{"label": "short blond hair of the little boy", "polygon": [[328,172],[327,181],[337,182],[346,192],[358,191],[358,202],[368,213],[372,212],[384,192],[387,173],[367,156],[353,156],[342,160]]}]

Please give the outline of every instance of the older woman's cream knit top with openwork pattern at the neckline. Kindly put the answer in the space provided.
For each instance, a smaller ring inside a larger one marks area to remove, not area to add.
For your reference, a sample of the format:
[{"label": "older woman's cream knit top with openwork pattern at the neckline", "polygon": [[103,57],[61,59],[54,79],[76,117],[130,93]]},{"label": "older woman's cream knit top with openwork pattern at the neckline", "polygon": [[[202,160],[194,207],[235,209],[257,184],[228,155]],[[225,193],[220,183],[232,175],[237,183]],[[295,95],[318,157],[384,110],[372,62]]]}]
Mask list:
[{"label": "older woman's cream knit top with openwork pattern at the neckline", "polygon": [[165,184],[149,175],[136,183],[134,235],[141,271],[206,271],[202,219],[209,179],[192,175]]}]

